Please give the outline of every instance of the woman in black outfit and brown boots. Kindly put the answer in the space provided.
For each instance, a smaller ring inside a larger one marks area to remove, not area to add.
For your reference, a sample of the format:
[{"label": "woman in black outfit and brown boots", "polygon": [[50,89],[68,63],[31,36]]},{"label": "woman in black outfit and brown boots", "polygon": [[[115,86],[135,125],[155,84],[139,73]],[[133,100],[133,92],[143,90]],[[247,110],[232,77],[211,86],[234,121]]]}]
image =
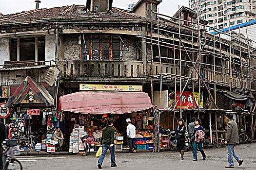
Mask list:
[{"label": "woman in black outfit and brown boots", "polygon": [[177,150],[180,153],[180,161],[184,159],[184,144],[185,144],[185,132],[186,132],[186,124],[184,119],[178,119],[178,125],[175,128],[175,134],[177,139]]}]

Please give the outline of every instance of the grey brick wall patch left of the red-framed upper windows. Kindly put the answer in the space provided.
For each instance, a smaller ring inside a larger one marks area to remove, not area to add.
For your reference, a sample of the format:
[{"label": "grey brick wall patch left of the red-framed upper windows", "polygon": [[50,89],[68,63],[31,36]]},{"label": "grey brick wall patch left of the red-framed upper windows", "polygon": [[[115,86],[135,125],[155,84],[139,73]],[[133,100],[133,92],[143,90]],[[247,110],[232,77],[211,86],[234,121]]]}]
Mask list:
[{"label": "grey brick wall patch left of the red-framed upper windows", "polygon": [[63,36],[64,57],[67,60],[79,60],[79,34],[65,34]]}]

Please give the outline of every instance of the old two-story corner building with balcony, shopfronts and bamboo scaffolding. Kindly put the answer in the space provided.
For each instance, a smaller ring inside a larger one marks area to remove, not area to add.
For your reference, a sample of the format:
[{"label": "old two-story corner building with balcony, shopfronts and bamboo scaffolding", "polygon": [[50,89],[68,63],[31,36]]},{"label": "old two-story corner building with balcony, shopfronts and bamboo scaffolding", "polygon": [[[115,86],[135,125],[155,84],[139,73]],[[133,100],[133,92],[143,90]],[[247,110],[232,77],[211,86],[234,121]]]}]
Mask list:
[{"label": "old two-story corner building with balcony, shopfronts and bamboo scaffolding", "polygon": [[143,130],[154,124],[146,119],[152,104],[164,129],[200,117],[209,143],[222,141],[224,131],[213,134],[225,128],[227,112],[253,129],[246,42],[196,29],[186,9],[179,10],[186,21],[161,17],[161,1],[139,0],[126,11],[87,0],[0,17],[0,102],[12,117],[28,115],[31,131],[51,136],[52,123],[61,126],[67,141],[74,124],[99,128],[102,114],[111,113],[124,136],[126,118]]}]

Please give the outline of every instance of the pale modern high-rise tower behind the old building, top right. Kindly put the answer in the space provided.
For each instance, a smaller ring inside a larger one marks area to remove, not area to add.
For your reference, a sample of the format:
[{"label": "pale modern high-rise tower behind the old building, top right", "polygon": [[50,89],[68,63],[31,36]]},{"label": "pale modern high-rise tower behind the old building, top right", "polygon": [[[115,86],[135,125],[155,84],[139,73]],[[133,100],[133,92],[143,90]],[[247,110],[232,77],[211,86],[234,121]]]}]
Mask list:
[{"label": "pale modern high-rise tower behind the old building, top right", "polygon": [[189,0],[189,7],[217,29],[256,19],[256,0]]}]

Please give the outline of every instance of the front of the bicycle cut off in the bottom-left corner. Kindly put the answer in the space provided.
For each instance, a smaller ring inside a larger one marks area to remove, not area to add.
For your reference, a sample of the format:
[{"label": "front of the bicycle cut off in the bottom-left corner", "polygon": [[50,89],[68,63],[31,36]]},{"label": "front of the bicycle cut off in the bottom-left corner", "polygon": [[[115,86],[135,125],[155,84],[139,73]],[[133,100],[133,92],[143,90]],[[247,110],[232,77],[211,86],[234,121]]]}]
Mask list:
[{"label": "front of the bicycle cut off in the bottom-left corner", "polygon": [[17,146],[17,142],[14,140],[6,139],[3,141],[2,145],[3,156],[6,157],[3,170],[22,170],[20,161],[12,157],[20,155],[20,147]]}]

